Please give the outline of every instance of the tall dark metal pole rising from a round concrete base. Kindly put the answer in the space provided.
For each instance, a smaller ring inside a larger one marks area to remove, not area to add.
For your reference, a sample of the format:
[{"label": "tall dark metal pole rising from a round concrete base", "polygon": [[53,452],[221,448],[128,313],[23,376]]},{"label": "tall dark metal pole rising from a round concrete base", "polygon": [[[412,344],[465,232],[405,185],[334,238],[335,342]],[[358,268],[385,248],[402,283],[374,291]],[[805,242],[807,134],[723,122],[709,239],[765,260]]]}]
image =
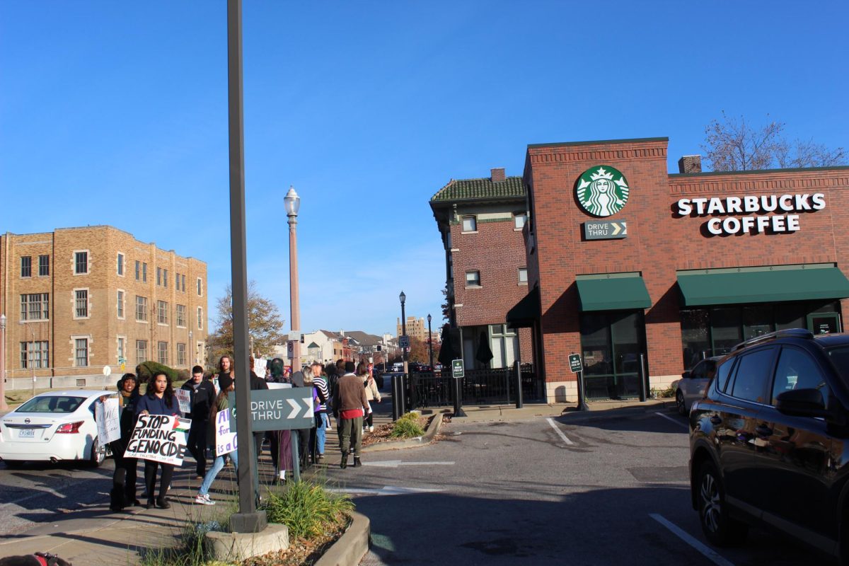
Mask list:
[{"label": "tall dark metal pole rising from a round concrete base", "polygon": [[230,518],[236,533],[266,528],[256,510],[256,459],[250,422],[248,367],[248,266],[245,246],[245,149],[242,116],[242,2],[227,2],[228,116],[230,140],[230,261],[233,277],[233,350],[236,355],[236,423],[239,448],[239,513]]}]

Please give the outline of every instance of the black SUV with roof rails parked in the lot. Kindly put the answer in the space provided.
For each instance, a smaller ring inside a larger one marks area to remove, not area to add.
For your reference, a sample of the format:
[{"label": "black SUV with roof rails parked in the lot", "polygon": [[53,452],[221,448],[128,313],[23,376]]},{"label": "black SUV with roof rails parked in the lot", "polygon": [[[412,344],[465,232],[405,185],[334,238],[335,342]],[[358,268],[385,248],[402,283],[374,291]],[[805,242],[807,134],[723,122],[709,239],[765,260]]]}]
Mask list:
[{"label": "black SUV with roof rails parked in the lot", "polygon": [[689,429],[693,507],[711,543],[760,524],[849,564],[849,334],[793,328],[737,345]]}]

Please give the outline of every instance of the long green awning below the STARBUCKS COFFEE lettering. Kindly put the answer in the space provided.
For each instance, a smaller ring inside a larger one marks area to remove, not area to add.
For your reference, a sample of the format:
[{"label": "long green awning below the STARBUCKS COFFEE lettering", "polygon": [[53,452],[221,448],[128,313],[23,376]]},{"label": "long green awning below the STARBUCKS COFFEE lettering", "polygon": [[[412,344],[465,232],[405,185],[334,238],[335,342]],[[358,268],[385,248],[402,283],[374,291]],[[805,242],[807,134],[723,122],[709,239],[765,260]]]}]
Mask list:
[{"label": "long green awning below the STARBUCKS COFFEE lettering", "polygon": [[849,279],[837,267],[678,273],[678,287],[683,306],[849,297]]}]

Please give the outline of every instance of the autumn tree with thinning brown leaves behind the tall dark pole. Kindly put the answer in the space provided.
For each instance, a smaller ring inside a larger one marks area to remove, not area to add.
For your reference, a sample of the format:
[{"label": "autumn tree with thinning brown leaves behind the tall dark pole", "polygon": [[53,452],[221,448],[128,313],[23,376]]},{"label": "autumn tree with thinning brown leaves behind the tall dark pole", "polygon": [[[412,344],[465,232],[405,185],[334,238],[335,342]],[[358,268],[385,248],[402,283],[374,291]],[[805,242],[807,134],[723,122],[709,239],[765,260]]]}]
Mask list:
[{"label": "autumn tree with thinning brown leaves behind the tall dark pole", "polygon": [[[216,301],[218,328],[209,337],[210,359],[233,355],[233,289],[230,285],[224,296]],[[248,333],[256,356],[270,356],[274,345],[284,341],[283,319],[277,305],[256,291],[256,282],[248,285]]]}]

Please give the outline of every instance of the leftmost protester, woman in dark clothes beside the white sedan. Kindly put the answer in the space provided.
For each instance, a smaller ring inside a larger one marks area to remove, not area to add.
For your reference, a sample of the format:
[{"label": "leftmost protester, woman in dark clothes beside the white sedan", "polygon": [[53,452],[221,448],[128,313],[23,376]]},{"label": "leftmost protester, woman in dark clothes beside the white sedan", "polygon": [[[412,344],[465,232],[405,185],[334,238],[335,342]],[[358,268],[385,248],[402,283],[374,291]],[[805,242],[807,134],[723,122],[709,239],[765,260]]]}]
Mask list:
[{"label": "leftmost protester, woman in dark clothes beside the white sedan", "polygon": [[137,458],[124,457],[127,444],[136,425],[136,402],[138,401],[138,378],[133,373],[125,373],[118,382],[118,406],[121,416],[119,427],[121,438],[110,442],[110,450],[115,457],[115,473],[112,474],[110,491],[110,509],[121,511],[124,507],[138,505],[136,499]]}]

